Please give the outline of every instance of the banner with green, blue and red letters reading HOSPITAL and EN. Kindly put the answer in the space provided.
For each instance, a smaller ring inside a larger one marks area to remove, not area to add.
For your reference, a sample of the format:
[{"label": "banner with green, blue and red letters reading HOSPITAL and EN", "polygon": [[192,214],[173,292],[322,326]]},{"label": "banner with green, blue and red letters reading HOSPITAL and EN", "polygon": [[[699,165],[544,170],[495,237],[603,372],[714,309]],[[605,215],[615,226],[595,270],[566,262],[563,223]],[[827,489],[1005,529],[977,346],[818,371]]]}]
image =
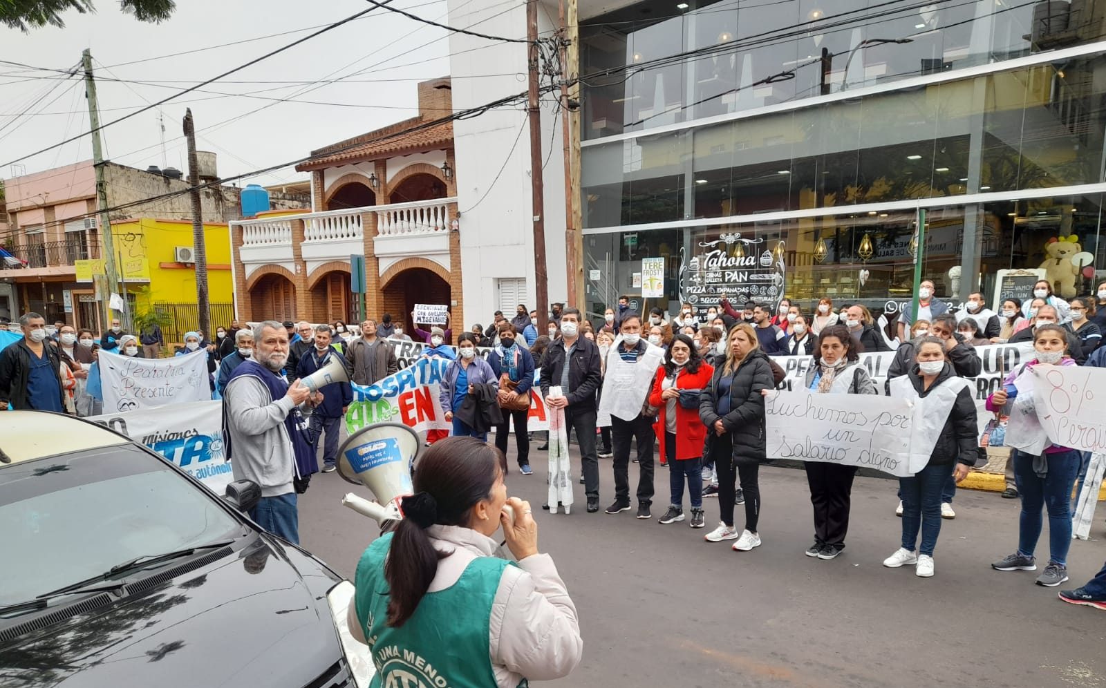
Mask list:
[{"label": "banner with green, blue and red letters reading HOSPITAL and EN", "polygon": [[[449,363],[441,357],[414,358],[375,385],[351,384],[353,403],[346,408],[346,430],[385,421],[403,423],[416,432],[452,428],[438,400],[439,381]],[[549,429],[545,404],[536,390],[530,393],[528,429]]]}]

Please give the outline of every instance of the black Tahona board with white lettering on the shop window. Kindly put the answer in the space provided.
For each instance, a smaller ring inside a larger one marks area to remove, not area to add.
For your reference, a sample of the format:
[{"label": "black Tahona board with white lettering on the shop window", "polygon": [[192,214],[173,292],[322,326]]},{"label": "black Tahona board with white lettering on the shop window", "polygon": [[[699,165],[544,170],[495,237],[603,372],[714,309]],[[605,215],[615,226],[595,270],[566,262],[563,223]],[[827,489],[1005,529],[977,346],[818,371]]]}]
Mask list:
[{"label": "black Tahona board with white lettering on the shop window", "polygon": [[723,295],[733,307],[750,301],[769,303],[774,313],[783,299],[784,256],[783,241],[745,238],[741,232],[693,241],[690,254],[680,256],[680,299],[700,315]]}]

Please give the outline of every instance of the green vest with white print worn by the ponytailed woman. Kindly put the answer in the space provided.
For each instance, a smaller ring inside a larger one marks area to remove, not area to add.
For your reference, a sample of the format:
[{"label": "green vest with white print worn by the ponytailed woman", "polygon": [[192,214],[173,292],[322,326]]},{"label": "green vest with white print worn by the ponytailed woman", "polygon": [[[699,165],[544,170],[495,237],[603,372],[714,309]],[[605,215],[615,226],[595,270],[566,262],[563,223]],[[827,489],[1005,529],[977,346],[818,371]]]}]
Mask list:
[{"label": "green vest with white print worn by the ponytailed woman", "polygon": [[[427,593],[399,628],[387,624],[384,560],[392,533],[368,545],[354,576],[357,622],[376,666],[373,688],[494,688],[489,625],[509,562],[478,556],[450,587]],[[520,687],[526,686],[523,680]]]}]

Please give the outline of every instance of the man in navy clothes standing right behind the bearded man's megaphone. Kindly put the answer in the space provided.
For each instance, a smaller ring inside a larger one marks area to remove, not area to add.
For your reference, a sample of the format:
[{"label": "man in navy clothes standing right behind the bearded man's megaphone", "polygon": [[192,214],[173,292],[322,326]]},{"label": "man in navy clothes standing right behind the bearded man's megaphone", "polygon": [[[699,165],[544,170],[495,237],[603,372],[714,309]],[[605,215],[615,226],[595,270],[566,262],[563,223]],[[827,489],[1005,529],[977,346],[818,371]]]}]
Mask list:
[{"label": "man in navy clothes standing right behind the bearded man's megaphone", "polygon": [[[323,438],[323,472],[334,470],[334,457],[338,450],[338,431],[346,407],[353,402],[353,388],[346,373],[345,358],[331,346],[330,325],[315,327],[315,344],[311,351],[300,356],[295,374],[304,385],[323,395],[323,403],[311,415],[311,434],[319,446]],[[321,379],[320,379],[321,378]],[[331,382],[333,381],[333,382]]]}]

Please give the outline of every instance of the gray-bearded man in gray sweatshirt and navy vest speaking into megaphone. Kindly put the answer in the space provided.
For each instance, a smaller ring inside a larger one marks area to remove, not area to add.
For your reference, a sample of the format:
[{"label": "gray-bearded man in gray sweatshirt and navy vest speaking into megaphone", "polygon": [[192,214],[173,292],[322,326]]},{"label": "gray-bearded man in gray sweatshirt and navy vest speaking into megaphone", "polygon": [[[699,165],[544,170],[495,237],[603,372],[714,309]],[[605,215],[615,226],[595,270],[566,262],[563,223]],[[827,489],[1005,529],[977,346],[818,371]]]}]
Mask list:
[{"label": "gray-bearded man in gray sweatshirt and navy vest speaking into megaphone", "polygon": [[265,321],[253,329],[253,358],[234,368],[223,390],[222,437],[234,480],[251,480],[261,488],[250,518],[299,544],[295,496],[319,471],[299,406],[319,404],[322,394],[312,394],[300,381],[289,386],[281,374],[288,352],[281,323]]}]

